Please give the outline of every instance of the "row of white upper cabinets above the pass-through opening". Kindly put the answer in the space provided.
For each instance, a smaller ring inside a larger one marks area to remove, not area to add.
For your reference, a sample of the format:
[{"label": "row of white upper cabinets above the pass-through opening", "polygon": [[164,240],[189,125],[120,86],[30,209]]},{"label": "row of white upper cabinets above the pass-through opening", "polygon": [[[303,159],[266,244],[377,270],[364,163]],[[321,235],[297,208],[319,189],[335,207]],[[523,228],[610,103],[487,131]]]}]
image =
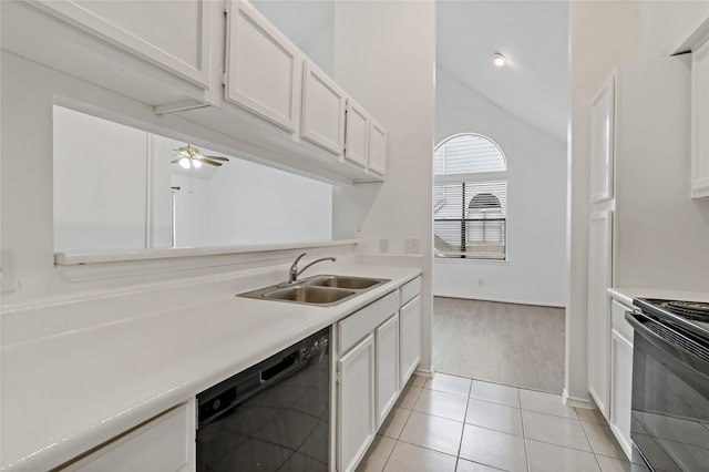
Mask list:
[{"label": "row of white upper cabinets above the pass-through opening", "polygon": [[52,86],[72,96],[58,96],[113,106],[88,92],[93,84],[179,114],[202,129],[173,131],[223,152],[336,184],[384,177],[384,129],[354,102],[348,122],[345,91],[247,0],[0,1],[0,10],[2,50],[66,74]]}]

